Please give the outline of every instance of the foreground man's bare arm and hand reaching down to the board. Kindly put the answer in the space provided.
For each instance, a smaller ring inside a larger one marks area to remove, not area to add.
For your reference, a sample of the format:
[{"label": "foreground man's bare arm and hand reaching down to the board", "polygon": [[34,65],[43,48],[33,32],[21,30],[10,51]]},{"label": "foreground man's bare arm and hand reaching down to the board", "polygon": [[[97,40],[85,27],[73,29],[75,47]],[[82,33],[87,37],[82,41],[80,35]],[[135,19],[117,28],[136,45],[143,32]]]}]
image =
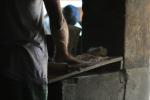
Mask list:
[{"label": "foreground man's bare arm and hand reaching down to the board", "polygon": [[50,26],[56,45],[56,61],[69,64],[80,63],[68,53],[69,31],[62,14],[60,0],[44,0],[47,13],[50,17]]}]

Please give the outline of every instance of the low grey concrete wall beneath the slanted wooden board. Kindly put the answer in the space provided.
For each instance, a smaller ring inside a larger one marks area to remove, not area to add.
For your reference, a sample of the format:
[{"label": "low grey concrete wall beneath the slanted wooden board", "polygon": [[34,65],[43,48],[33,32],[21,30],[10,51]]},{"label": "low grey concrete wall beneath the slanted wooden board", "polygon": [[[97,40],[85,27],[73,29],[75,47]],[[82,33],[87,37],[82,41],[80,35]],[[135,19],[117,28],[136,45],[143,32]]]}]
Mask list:
[{"label": "low grey concrete wall beneath the slanted wooden board", "polygon": [[119,72],[63,81],[63,100],[123,100],[124,84]]}]

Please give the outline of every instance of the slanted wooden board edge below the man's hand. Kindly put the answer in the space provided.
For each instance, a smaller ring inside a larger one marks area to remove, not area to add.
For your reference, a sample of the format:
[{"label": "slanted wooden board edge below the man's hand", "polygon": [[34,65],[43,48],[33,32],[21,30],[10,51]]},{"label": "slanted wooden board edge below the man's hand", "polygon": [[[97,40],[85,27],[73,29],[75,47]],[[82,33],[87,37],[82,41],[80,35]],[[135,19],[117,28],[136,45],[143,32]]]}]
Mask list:
[{"label": "slanted wooden board edge below the man's hand", "polygon": [[120,64],[121,64],[120,69],[122,69],[123,58],[122,57],[110,57],[109,59],[97,62],[97,63],[92,64],[90,66],[80,67],[79,70],[74,70],[72,72],[68,72],[68,73],[64,73],[64,74],[60,74],[60,75],[49,74],[48,82],[49,82],[49,84],[51,84],[51,83],[61,81],[61,80],[66,79],[66,78],[70,78],[72,76],[79,75],[79,74],[87,72],[87,71],[90,71],[92,69],[100,68],[104,65],[115,63],[115,62],[120,62]]}]

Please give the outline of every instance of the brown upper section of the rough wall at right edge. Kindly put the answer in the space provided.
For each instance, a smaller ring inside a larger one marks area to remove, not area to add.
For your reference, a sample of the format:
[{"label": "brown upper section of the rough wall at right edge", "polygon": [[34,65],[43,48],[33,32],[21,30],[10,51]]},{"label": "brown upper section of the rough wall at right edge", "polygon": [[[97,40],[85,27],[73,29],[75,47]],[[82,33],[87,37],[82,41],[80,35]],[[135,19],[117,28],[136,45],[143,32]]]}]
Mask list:
[{"label": "brown upper section of the rough wall at right edge", "polygon": [[148,67],[150,0],[126,0],[125,66]]}]

